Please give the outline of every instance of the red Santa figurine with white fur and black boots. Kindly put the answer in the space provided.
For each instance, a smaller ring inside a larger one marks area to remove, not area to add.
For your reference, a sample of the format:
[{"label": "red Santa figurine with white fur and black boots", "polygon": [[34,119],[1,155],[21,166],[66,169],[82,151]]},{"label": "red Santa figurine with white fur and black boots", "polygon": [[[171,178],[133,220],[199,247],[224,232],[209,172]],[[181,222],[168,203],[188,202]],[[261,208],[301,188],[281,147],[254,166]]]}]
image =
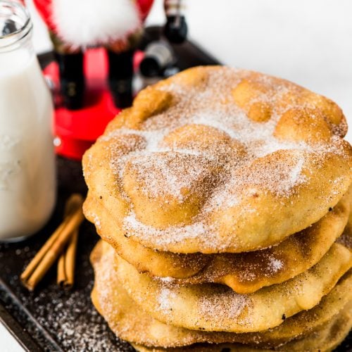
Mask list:
[{"label": "red Santa figurine with white fur and black boots", "polygon": [[[108,52],[108,84],[118,108],[132,103],[132,58],[153,0],[34,0],[54,44],[66,108],[82,107],[83,52],[104,46]],[[165,0],[165,35],[182,42],[187,25],[182,0]]]}]

